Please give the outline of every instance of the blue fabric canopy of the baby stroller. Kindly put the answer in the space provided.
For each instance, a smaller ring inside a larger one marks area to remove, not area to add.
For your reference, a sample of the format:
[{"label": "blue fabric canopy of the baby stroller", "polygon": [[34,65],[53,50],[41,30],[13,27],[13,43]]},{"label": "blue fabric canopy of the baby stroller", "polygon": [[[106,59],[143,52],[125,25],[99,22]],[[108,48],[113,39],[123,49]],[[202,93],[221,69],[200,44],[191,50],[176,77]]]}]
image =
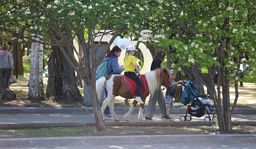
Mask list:
[{"label": "blue fabric canopy of the baby stroller", "polygon": [[185,84],[185,89],[181,97],[181,103],[187,105],[189,102],[194,102],[195,98],[198,96],[198,89],[192,81],[187,81]]}]

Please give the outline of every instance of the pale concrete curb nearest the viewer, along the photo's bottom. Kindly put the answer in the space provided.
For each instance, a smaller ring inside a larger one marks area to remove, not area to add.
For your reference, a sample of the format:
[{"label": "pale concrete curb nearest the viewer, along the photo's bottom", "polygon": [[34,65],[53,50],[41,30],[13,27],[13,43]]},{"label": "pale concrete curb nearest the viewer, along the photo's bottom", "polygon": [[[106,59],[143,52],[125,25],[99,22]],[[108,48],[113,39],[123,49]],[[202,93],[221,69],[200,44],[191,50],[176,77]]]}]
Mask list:
[{"label": "pale concrete curb nearest the viewer, along the photo's bottom", "polygon": [[188,142],[256,142],[256,134],[129,135],[108,137],[44,137],[1,139],[1,148],[60,147],[72,145],[125,145]]}]

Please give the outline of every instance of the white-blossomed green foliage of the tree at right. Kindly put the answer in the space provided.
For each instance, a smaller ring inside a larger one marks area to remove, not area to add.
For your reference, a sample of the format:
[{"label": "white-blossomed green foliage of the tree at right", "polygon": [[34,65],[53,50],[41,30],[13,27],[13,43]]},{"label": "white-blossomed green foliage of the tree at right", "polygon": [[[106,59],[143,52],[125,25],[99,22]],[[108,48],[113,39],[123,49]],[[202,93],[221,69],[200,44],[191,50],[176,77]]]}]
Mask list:
[{"label": "white-blossomed green foliage of the tree at right", "polygon": [[[158,39],[158,46],[166,52],[171,48],[174,69],[195,63],[201,68],[216,65],[227,78],[238,80],[239,66],[247,64],[246,75],[255,73],[255,1],[169,0],[161,6],[151,30],[167,37]],[[247,60],[241,60],[245,56]]]}]

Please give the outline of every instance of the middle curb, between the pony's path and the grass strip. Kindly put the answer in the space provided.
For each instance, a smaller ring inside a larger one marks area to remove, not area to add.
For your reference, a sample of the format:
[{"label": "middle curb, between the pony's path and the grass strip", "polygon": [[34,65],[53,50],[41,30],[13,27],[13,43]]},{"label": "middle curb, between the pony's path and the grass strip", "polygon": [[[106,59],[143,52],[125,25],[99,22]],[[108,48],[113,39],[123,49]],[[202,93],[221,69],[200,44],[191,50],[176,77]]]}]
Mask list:
[{"label": "middle curb, between the pony's path and the grass strip", "polygon": [[[105,121],[106,126],[211,126],[218,121]],[[248,124],[256,126],[255,121],[232,121],[232,125]],[[86,123],[0,123],[0,128],[10,129],[39,129],[61,126],[96,126],[95,122]]]}]

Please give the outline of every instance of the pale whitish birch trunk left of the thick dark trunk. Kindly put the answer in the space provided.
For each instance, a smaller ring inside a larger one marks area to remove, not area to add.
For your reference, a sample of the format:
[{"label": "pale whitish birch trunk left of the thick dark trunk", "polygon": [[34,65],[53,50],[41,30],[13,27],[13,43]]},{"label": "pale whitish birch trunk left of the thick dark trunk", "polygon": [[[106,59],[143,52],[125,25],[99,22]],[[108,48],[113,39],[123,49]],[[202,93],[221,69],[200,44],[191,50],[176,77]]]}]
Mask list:
[{"label": "pale whitish birch trunk left of the thick dark trunk", "polygon": [[[42,50],[42,44],[31,44],[31,63],[30,63],[30,75],[29,75],[29,99],[34,101],[41,101],[44,99],[42,89],[40,89],[39,76],[39,51]],[[41,83],[40,83],[41,82]]]}]

